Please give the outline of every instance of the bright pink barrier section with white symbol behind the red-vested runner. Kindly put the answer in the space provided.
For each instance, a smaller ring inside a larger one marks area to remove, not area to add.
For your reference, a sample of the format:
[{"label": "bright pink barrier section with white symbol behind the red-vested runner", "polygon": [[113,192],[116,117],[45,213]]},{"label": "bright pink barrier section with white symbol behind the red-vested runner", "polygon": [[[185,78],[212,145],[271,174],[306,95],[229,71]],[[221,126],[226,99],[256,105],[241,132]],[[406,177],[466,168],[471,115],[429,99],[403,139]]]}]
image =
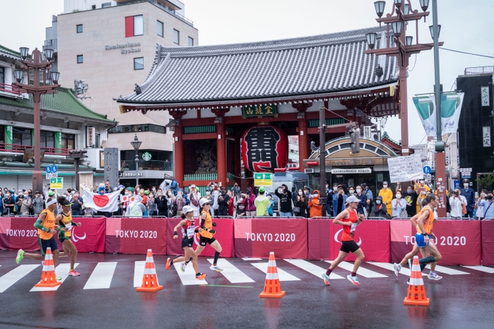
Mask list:
[{"label": "bright pink barrier section with white symbol behind the red-vested runner", "polygon": [[[330,255],[331,259],[338,256],[342,246],[342,225],[330,225]],[[390,221],[389,220],[363,220],[355,231],[354,241],[361,246],[365,261],[383,262],[390,261]],[[355,261],[353,253],[349,253],[345,261]]]}]

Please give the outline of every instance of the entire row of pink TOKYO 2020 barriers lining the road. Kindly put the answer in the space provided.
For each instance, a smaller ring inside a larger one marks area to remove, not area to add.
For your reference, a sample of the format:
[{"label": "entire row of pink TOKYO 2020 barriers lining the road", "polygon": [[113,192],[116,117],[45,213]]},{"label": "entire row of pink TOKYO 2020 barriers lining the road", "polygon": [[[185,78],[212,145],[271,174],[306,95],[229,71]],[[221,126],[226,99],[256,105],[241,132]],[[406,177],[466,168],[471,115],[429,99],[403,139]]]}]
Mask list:
[{"label": "entire row of pink TOKYO 2020 barriers lining the road", "polygon": [[[173,217],[75,217],[72,241],[80,252],[179,255],[181,232],[173,239],[181,218]],[[198,219],[195,225],[198,227]],[[0,249],[39,250],[35,217],[0,217]],[[215,238],[223,257],[335,259],[341,246],[341,225],[330,218],[243,217],[217,218]],[[439,220],[433,242],[442,254],[441,265],[494,265],[493,220]],[[362,247],[366,261],[399,262],[411,251],[415,229],[408,219],[363,220],[354,240]],[[58,241],[58,239],[57,239]],[[195,244],[198,244],[198,237]],[[61,248],[61,244],[59,244]],[[214,256],[206,246],[201,256]],[[348,261],[354,261],[350,254]]]}]

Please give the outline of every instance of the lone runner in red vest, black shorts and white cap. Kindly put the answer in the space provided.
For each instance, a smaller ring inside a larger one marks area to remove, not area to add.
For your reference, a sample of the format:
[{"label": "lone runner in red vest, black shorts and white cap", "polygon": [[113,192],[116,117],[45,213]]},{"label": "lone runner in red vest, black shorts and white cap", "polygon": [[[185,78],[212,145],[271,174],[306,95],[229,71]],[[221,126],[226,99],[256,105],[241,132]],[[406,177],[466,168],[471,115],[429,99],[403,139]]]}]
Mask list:
[{"label": "lone runner in red vest, black shorts and white cap", "polygon": [[359,207],[359,198],[356,196],[349,196],[347,198],[347,208],[337,215],[333,224],[343,225],[342,234],[342,247],[339,249],[339,255],[330,265],[330,268],[326,272],[321,273],[326,285],[330,285],[330,274],[339,263],[342,263],[347,257],[348,253],[351,251],[357,257],[354,263],[354,270],[351,275],[347,275],[347,279],[356,286],[360,285],[359,279],[357,278],[357,270],[365,257],[363,255],[362,249],[354,241],[355,229],[361,224],[364,215],[357,214],[357,207]]}]

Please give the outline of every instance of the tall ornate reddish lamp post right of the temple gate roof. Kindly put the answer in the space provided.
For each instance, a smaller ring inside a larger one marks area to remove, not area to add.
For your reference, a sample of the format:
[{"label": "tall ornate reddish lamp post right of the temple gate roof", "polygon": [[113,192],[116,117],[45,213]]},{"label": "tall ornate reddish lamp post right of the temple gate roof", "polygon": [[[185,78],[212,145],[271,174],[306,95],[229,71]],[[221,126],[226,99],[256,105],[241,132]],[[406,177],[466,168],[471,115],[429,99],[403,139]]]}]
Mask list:
[{"label": "tall ornate reddish lamp post right of the temple gate roof", "polygon": [[[375,42],[378,39],[377,33],[368,33],[366,35],[367,43],[370,48],[370,50],[366,50],[366,54],[397,56],[398,58],[399,112],[402,127],[402,155],[409,155],[408,106],[406,95],[406,68],[409,66],[409,57],[412,54],[418,54],[422,50],[430,50],[434,46],[432,43],[418,43],[418,20],[421,20],[422,18],[425,20],[426,16],[429,15],[429,12],[427,11],[429,0],[419,0],[419,4],[423,10],[423,13],[419,13],[418,10],[414,10],[411,6],[410,0],[393,0],[391,13],[388,13],[385,17],[382,17],[386,1],[375,1],[375,12],[379,17],[376,20],[379,24],[385,23],[387,25],[386,40],[380,40],[380,49],[374,49]],[[415,43],[414,37],[406,36],[406,25],[407,22],[411,20],[415,20],[416,22]],[[392,37],[390,37],[390,27],[393,32]],[[384,44],[384,47],[382,44]],[[442,45],[442,42],[439,42],[438,44]]]}]

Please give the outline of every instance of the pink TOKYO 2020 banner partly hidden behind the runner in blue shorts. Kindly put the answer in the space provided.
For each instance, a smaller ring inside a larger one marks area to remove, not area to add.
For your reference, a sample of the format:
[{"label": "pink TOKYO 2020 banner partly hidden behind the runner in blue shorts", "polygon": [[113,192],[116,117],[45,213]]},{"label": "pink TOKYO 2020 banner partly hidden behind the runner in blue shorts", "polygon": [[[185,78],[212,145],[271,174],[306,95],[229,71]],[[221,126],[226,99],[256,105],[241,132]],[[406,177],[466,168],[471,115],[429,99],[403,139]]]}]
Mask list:
[{"label": "pink TOKYO 2020 banner partly hidden behind the runner in blue shorts", "polygon": [[[416,229],[409,220],[392,220],[391,261],[402,261],[415,243]],[[493,230],[494,231],[494,230]],[[481,264],[481,222],[478,220],[439,220],[435,222],[433,243],[442,259],[440,265]],[[419,254],[419,257],[420,254]]]}]

